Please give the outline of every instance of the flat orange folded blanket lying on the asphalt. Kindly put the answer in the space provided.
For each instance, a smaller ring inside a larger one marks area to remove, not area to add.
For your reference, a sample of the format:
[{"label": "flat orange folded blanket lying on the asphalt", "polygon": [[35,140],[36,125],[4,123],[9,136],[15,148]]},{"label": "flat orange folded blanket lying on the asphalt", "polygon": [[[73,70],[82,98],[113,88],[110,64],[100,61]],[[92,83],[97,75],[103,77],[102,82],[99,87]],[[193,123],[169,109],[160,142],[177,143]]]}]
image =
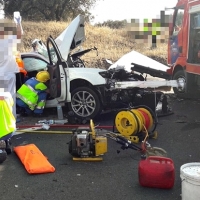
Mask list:
[{"label": "flat orange folded blanket lying on the asphalt", "polygon": [[29,174],[55,172],[55,168],[34,144],[14,147],[14,152]]}]

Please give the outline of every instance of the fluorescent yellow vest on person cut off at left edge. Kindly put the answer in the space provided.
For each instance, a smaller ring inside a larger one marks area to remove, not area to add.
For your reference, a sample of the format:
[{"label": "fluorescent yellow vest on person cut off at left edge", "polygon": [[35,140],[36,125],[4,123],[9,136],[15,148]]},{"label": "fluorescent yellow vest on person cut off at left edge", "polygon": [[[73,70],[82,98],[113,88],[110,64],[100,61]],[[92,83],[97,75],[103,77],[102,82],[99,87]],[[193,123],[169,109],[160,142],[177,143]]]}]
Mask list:
[{"label": "fluorescent yellow vest on person cut off at left edge", "polygon": [[13,101],[0,99],[0,138],[16,129],[16,119],[12,113]]}]

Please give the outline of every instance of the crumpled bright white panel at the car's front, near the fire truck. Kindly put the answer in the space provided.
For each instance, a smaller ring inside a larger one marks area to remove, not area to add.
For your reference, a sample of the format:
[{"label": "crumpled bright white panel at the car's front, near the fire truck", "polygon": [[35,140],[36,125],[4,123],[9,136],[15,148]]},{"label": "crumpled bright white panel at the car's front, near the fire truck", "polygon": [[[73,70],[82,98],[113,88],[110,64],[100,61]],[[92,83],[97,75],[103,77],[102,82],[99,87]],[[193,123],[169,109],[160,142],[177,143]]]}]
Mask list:
[{"label": "crumpled bright white panel at the car's front, near the fire truck", "polygon": [[169,67],[167,65],[161,64],[137,51],[131,51],[124,56],[122,56],[117,62],[112,64],[109,69],[116,68],[117,66],[124,66],[124,69],[127,71],[131,71],[131,63],[135,63],[138,65],[146,66],[151,69],[160,70],[166,72]]}]

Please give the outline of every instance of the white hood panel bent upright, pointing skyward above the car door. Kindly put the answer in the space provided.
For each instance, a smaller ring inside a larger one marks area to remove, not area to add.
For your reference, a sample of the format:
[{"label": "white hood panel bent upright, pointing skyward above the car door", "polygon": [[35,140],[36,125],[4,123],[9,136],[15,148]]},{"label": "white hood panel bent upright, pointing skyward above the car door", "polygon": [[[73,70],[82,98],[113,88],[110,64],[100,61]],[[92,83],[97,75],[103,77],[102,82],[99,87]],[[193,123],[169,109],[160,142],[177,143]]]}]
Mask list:
[{"label": "white hood panel bent upright, pointing skyward above the car door", "polygon": [[78,15],[70,25],[55,39],[62,58],[67,60],[70,50],[85,41],[84,16]]}]

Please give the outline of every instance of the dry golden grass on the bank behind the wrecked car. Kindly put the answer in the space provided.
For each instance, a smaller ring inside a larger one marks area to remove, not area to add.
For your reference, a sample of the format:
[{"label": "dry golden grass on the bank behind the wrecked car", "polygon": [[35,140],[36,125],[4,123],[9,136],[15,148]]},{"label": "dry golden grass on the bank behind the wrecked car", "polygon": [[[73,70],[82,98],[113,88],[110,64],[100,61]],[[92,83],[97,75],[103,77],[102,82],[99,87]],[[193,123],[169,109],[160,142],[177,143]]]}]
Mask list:
[{"label": "dry golden grass on the bank behind the wrecked car", "polygon": [[[41,39],[44,43],[49,35],[56,38],[67,26],[69,22],[23,22],[24,36],[19,47],[21,52],[31,50],[31,41],[35,38]],[[151,50],[148,44],[136,43],[131,38],[127,30],[110,29],[108,27],[94,27],[85,25],[86,41],[83,49],[98,48],[98,56],[95,51],[85,54],[82,59],[87,67],[105,68],[104,60],[117,61],[121,56],[131,50],[138,51],[161,63],[166,64],[167,45],[159,44],[156,49]]]}]

